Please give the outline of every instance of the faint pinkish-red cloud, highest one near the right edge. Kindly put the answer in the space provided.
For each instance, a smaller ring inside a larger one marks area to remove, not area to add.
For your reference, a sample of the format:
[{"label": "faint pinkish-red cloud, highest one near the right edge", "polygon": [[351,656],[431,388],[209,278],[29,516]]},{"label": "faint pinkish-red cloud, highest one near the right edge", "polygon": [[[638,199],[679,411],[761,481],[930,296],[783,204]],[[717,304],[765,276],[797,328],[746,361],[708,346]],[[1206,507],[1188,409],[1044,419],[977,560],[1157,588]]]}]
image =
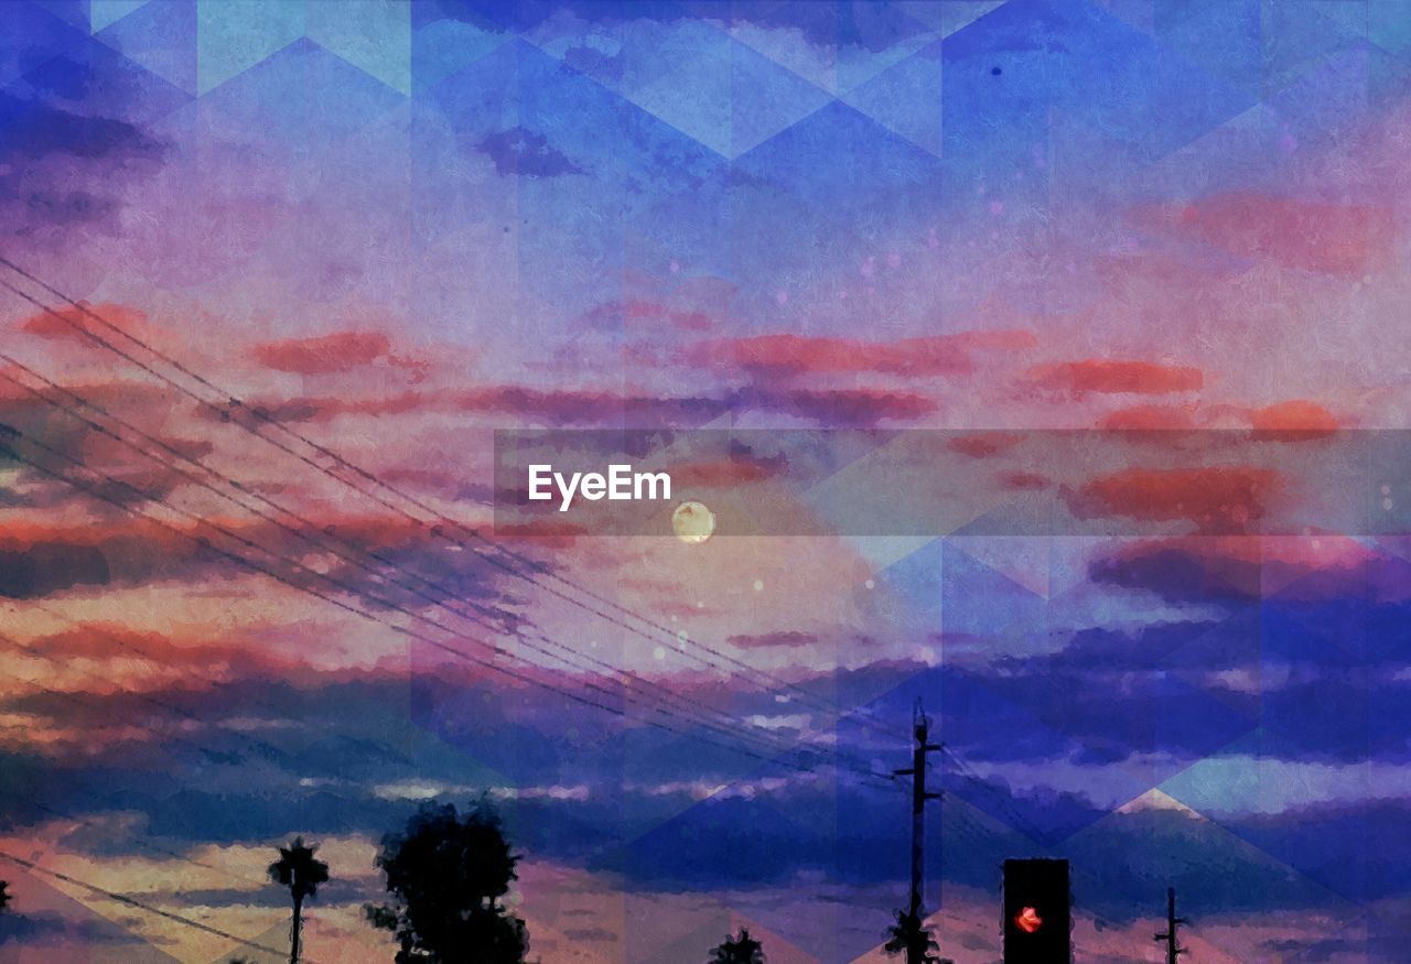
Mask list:
[{"label": "faint pinkish-red cloud, highest one near the right edge", "polygon": [[1189,204],[1139,209],[1140,223],[1195,237],[1242,258],[1329,275],[1360,275],[1391,248],[1391,213],[1362,204],[1321,204],[1252,192]]}]

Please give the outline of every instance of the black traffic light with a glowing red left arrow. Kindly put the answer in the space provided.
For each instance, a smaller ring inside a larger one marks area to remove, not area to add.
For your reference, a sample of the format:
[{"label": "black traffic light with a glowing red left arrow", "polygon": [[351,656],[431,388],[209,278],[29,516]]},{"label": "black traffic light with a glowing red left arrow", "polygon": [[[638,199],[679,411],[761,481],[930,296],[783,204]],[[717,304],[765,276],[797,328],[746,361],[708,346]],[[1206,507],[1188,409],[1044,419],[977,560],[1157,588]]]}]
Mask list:
[{"label": "black traffic light with a glowing red left arrow", "polygon": [[1067,860],[1005,861],[1005,964],[1070,964]]}]

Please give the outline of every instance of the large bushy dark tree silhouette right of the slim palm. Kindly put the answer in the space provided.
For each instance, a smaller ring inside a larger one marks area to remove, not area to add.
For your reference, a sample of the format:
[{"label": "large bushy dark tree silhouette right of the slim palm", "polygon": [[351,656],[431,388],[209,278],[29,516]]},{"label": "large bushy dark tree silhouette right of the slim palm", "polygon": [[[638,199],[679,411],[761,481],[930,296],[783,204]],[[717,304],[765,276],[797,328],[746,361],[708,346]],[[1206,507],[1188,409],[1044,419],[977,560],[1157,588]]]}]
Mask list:
[{"label": "large bushy dark tree silhouette right of the slim palm", "polygon": [[394,902],[364,912],[396,936],[396,964],[523,964],[525,923],[499,903],[516,863],[484,801],[464,815],[426,803],[402,833],[382,837],[377,865]]}]

